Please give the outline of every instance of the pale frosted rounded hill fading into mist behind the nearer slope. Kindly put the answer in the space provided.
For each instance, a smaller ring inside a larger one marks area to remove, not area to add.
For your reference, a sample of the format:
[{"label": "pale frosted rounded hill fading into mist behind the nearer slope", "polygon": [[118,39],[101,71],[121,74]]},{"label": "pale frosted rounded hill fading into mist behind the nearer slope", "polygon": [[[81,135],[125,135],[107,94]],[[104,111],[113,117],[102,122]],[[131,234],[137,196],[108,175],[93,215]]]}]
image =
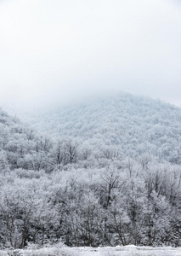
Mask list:
[{"label": "pale frosted rounded hill fading into mist behind the nearer slope", "polygon": [[181,163],[181,108],[146,97],[99,96],[28,120],[39,131],[76,137],[90,147]]}]

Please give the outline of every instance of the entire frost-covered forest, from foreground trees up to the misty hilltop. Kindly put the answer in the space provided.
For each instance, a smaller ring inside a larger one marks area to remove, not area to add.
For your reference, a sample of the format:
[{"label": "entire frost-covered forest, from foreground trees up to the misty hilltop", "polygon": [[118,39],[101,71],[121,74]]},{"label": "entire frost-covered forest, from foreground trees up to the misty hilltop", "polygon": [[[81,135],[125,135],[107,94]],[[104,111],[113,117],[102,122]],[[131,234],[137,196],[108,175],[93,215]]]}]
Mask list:
[{"label": "entire frost-covered forest, from foreground trees up to the misty hilltop", "polygon": [[46,133],[0,110],[1,247],[181,246],[180,108],[106,96],[29,121]]}]

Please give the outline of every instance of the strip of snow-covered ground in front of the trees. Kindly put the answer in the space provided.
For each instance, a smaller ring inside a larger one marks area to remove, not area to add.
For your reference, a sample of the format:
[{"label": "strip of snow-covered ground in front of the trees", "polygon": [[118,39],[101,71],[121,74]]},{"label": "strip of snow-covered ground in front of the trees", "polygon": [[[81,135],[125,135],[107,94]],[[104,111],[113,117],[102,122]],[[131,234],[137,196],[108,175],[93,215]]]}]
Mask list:
[{"label": "strip of snow-covered ground in front of the trees", "polygon": [[0,256],[181,256],[181,247],[43,247],[2,250]]}]

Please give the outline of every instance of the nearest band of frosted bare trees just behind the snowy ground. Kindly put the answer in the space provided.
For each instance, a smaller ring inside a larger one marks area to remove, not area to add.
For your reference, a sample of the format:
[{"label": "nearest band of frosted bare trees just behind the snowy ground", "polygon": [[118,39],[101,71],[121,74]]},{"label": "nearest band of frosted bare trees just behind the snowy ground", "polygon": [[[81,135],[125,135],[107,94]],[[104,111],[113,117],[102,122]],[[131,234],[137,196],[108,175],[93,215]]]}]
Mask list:
[{"label": "nearest band of frosted bare trees just behind the snowy ground", "polygon": [[0,245],[181,246],[181,169],[148,157],[0,174]]}]

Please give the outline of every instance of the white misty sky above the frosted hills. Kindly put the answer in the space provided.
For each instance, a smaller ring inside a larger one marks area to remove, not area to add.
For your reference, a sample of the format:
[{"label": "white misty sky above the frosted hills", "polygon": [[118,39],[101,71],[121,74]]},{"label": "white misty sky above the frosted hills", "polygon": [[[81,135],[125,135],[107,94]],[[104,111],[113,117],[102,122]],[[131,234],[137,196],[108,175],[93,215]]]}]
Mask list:
[{"label": "white misty sky above the frosted hills", "polygon": [[181,107],[180,2],[0,0],[0,105],[121,90]]}]

